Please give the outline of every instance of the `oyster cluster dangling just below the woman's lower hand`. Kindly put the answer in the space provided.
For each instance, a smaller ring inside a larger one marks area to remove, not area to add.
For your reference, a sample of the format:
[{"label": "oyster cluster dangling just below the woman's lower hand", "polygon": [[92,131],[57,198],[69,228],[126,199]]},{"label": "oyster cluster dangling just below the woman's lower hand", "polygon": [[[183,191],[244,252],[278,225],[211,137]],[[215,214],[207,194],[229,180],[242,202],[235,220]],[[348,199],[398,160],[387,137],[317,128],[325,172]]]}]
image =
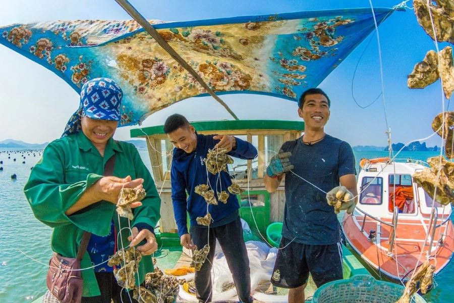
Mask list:
[{"label": "oyster cluster dangling just below the woman's lower hand", "polygon": [[113,270],[113,275],[117,279],[118,285],[124,288],[133,289],[136,286],[134,274],[137,272],[139,262],[142,260],[140,251],[134,247],[128,249],[120,249],[109,259],[108,266],[120,265],[120,269]]}]

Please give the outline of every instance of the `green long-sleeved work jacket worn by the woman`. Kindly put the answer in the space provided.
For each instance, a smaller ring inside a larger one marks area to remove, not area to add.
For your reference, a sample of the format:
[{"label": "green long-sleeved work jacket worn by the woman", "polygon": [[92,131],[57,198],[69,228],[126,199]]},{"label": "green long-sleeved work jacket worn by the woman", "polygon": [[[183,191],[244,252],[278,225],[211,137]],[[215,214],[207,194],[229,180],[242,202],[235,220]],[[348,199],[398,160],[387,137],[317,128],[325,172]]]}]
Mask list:
[{"label": "green long-sleeved work jacket worn by the woman", "polygon": [[[110,231],[113,218],[117,231],[128,227],[128,219],[120,218],[115,205],[99,201],[70,216],[65,212],[73,206],[84,191],[96,183],[104,172],[107,160],[117,154],[113,175],[132,179],[143,178],[146,196],[142,206],[135,208],[131,227],[137,223],[146,223],[153,228],[159,220],[160,198],[150,172],[143,164],[133,144],[115,141],[107,142],[104,158],[82,131],[50,142],[44,149],[42,159],[34,166],[24,192],[35,217],[53,228],[50,245],[53,251],[64,257],[75,258],[82,240],[83,231],[106,236]],[[123,229],[119,241],[123,247],[129,245],[129,229]],[[121,248],[121,245],[118,245]],[[50,259],[51,256],[49,256]],[[82,268],[91,267],[90,256],[85,254],[81,261]],[[144,256],[139,266],[136,283],[142,283],[145,273],[153,271],[151,256]],[[93,269],[82,271],[83,296],[99,295]]]}]

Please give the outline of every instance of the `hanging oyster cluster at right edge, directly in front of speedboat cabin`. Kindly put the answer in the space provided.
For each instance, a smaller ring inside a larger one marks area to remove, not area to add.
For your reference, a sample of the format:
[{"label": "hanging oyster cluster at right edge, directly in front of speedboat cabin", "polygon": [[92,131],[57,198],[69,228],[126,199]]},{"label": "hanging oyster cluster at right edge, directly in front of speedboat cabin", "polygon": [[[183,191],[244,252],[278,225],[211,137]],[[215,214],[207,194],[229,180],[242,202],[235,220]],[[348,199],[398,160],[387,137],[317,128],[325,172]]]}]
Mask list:
[{"label": "hanging oyster cluster at right edge, directly in front of speedboat cabin", "polygon": [[436,202],[442,205],[451,202],[454,204],[454,163],[446,161],[442,156],[429,158],[427,163],[430,168],[415,172],[413,180]]}]

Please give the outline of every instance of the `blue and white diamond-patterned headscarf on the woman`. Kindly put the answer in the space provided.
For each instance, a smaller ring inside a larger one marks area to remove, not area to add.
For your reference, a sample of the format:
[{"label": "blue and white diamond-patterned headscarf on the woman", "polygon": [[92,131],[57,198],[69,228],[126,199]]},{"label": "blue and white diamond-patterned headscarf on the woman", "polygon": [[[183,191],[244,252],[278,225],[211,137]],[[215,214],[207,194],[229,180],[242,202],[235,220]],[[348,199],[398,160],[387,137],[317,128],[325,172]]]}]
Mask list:
[{"label": "blue and white diamond-patterned headscarf on the woman", "polygon": [[120,121],[122,97],[122,89],[112,79],[95,78],[87,81],[80,92],[79,109],[69,119],[62,137],[82,129],[81,117]]}]

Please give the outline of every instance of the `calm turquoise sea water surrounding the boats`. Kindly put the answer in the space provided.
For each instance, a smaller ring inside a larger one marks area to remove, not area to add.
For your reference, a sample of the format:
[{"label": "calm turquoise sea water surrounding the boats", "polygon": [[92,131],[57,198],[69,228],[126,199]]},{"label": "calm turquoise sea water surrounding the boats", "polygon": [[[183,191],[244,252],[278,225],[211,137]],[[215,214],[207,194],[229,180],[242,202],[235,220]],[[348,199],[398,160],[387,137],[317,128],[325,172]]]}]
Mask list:
[{"label": "calm turquoise sea water surrounding the boats", "polygon": [[[47,267],[27,258],[18,250],[44,264],[47,264],[52,254],[49,248],[51,229],[35,219],[22,191],[30,168],[40,158],[39,152],[40,150],[35,151],[33,157],[33,153],[20,153],[19,149],[0,148],[0,161],[3,161],[0,164],[3,167],[3,171],[0,171],[0,302],[30,302],[46,289]],[[8,153],[11,155],[8,156]],[[150,167],[148,151],[142,149],[139,153],[144,163]],[[398,158],[425,161],[438,154],[407,151]],[[361,158],[387,155],[386,151],[355,152],[357,163]],[[16,161],[13,161],[14,158]],[[12,174],[17,175],[16,180],[11,179]],[[454,291],[453,262],[436,276],[435,281],[437,286],[424,296],[425,299],[433,303],[454,301],[451,294]]]}]

